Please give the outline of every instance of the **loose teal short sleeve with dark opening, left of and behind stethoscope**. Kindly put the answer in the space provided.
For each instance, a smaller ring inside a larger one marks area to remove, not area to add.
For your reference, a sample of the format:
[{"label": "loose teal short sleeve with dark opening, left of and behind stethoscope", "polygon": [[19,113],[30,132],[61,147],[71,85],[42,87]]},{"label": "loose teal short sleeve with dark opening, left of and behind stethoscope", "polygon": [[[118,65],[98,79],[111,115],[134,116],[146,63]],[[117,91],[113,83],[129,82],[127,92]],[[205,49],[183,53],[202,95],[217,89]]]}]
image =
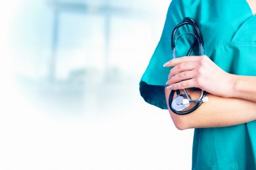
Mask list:
[{"label": "loose teal short sleeve with dark opening, left of and behind stethoscope", "polygon": [[[159,107],[160,109],[167,109],[164,88],[166,86],[171,67],[163,67],[163,64],[173,59],[173,53],[171,50],[171,32],[173,28],[182,22],[185,17],[194,18],[192,12],[190,12],[192,10],[184,11],[184,9],[186,9],[186,5],[188,5],[187,2],[191,3],[187,0],[173,0],[171,2],[167,11],[167,17],[165,19],[161,39],[158,42],[158,46],[156,47],[148,67],[139,82],[140,95],[144,101]],[[181,31],[184,31],[184,29],[190,28],[182,27]],[[179,42],[179,53],[186,55],[185,51],[188,45],[189,44],[186,41]]]}]

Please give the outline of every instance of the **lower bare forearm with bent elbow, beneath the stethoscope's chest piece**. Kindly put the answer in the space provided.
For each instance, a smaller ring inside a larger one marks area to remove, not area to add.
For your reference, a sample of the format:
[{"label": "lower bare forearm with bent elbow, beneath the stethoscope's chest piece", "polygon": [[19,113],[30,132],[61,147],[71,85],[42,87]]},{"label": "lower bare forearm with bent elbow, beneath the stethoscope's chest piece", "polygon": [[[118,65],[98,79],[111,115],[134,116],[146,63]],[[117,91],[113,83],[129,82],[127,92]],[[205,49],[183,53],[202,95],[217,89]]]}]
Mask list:
[{"label": "lower bare forearm with bent elbow, beneath the stethoscope's chest piece", "polygon": [[[170,90],[165,88],[165,97],[169,108]],[[200,92],[189,91],[192,99],[197,98]],[[179,129],[198,127],[224,127],[244,124],[256,120],[256,103],[238,98],[224,98],[207,94],[208,103],[202,105],[187,115],[174,114],[170,109],[171,118]]]}]

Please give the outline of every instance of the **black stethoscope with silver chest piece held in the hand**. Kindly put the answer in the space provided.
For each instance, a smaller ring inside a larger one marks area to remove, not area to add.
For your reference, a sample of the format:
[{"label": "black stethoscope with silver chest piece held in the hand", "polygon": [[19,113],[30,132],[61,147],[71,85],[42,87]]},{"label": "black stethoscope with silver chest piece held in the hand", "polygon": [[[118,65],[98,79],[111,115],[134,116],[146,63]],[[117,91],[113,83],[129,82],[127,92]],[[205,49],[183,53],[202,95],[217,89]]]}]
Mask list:
[{"label": "black stethoscope with silver chest piece held in the hand", "polygon": [[[196,34],[194,34],[194,33],[183,34],[183,35],[192,35],[195,37],[194,42],[193,42],[192,46],[190,46],[190,49],[188,50],[188,53],[186,54],[186,56],[190,56],[192,50],[194,50],[194,48],[196,47],[197,44],[199,44],[200,56],[203,56],[202,33],[201,33],[200,29],[198,28],[198,25],[196,24],[196,22],[194,22],[194,20],[192,20],[192,18],[186,17],[180,24],[178,24],[173,29],[173,32],[171,34],[171,48],[173,50],[173,58],[177,58],[176,51],[175,51],[175,49],[176,49],[175,42],[181,37],[181,35],[179,35],[175,39],[175,34],[176,34],[177,30],[183,25],[192,25],[192,27],[194,27],[194,29],[196,30]],[[175,97],[175,99],[173,99],[175,92],[177,93],[177,97]],[[198,109],[198,107],[200,107],[200,105],[203,102],[208,101],[208,98],[206,97],[206,94],[203,90],[201,91],[200,97],[196,100],[191,99],[191,97],[190,97],[190,95],[188,95],[188,92],[186,91],[186,89],[183,89],[183,92],[184,92],[184,94],[181,94],[180,90],[171,90],[171,93],[169,95],[169,107],[175,114],[179,114],[179,115],[189,114],[189,113],[193,112],[194,110]],[[192,107],[192,109],[185,110],[188,107],[190,107],[191,103],[196,103],[196,105],[194,107]]]}]

